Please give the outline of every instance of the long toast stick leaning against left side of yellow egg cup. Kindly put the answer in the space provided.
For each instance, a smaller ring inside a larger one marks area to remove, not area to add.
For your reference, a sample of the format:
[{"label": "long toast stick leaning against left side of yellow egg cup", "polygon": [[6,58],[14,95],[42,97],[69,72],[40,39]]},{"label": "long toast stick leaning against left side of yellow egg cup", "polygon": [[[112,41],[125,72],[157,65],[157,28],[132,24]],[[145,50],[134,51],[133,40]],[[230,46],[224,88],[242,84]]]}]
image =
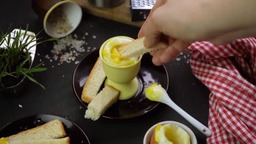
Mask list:
[{"label": "long toast stick leaning against left side of yellow egg cup", "polygon": [[91,73],[83,86],[82,100],[90,103],[91,100],[97,95],[106,75],[103,70],[102,61],[100,58],[96,61],[91,70]]}]

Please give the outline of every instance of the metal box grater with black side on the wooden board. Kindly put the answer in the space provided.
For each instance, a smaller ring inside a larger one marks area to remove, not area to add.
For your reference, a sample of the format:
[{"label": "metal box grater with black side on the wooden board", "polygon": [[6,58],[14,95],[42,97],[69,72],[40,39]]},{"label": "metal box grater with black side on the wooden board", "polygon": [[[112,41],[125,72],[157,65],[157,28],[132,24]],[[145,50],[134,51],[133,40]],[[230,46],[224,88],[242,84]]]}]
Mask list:
[{"label": "metal box grater with black side on the wooden board", "polygon": [[156,0],[131,0],[131,21],[144,21]]}]

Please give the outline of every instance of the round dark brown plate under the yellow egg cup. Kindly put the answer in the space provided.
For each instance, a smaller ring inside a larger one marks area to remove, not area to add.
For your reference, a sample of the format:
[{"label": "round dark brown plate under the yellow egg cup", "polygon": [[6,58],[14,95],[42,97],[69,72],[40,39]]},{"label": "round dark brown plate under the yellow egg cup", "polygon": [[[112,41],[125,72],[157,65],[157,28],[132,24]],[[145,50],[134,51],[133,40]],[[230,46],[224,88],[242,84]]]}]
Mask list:
[{"label": "round dark brown plate under the yellow egg cup", "polygon": [[[88,54],[88,56],[86,56],[77,65],[73,75],[73,88],[75,95],[85,108],[87,108],[88,104],[81,99],[83,85],[85,84],[98,57],[99,50]],[[141,69],[137,78],[139,80],[139,91],[136,95],[131,99],[117,101],[117,103],[112,105],[112,107],[105,112],[103,117],[113,119],[138,117],[154,109],[159,104],[156,101],[148,100],[144,92],[152,83],[159,83],[167,91],[169,79],[165,67],[163,65],[159,67],[155,66],[152,63],[152,56],[144,54],[141,59]]]}]

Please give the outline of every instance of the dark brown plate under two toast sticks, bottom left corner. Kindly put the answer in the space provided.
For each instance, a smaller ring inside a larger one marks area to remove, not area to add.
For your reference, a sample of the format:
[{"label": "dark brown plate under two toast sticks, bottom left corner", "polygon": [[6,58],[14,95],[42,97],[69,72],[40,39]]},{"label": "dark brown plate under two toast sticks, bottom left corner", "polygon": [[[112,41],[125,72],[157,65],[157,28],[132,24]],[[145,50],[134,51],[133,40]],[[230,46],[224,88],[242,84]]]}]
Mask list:
[{"label": "dark brown plate under two toast sticks, bottom left corner", "polygon": [[70,138],[70,144],[90,144],[83,130],[79,128],[79,126],[77,126],[75,123],[64,117],[48,114],[29,115],[14,120],[13,122],[5,125],[0,130],[0,138],[11,136],[21,131],[35,128],[39,125],[43,125],[51,120],[56,119],[60,120],[63,123],[67,136],[69,136]]}]

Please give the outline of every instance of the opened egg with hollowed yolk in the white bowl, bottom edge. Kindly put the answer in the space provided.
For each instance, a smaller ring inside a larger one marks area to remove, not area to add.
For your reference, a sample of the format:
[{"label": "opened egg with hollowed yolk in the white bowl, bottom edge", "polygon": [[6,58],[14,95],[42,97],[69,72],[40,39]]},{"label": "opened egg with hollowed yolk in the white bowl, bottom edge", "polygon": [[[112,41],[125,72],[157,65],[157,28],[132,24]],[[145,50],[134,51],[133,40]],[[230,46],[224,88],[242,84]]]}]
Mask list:
[{"label": "opened egg with hollowed yolk in the white bowl, bottom edge", "polygon": [[190,137],[177,125],[158,124],[155,128],[155,141],[158,144],[190,144]]}]

